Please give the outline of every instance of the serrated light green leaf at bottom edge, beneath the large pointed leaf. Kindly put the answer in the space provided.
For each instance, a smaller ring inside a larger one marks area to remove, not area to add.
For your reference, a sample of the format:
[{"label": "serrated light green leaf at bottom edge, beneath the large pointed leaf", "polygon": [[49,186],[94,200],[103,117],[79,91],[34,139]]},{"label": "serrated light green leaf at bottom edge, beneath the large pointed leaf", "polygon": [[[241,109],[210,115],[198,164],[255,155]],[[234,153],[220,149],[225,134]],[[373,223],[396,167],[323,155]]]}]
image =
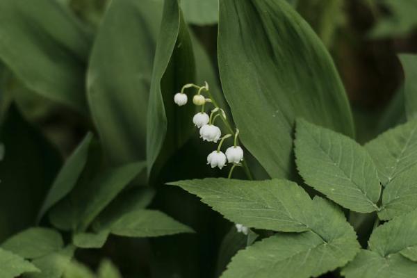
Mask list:
[{"label": "serrated light green leaf at bottom edge, beneath the large pointed leaf", "polygon": [[329,242],[312,231],[276,234],[238,252],[222,278],[309,278],[334,270],[359,252],[353,230]]}]

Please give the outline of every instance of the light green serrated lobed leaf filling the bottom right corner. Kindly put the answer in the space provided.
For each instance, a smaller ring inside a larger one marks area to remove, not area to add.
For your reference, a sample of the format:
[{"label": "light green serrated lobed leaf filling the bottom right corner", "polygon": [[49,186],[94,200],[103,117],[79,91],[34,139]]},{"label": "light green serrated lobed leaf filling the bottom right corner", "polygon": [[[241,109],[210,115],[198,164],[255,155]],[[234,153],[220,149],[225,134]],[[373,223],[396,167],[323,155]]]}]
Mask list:
[{"label": "light green serrated lobed leaf filling the bottom right corner", "polygon": [[412,211],[377,227],[369,239],[370,250],[362,251],[342,274],[347,278],[416,277],[416,219],[417,211]]}]

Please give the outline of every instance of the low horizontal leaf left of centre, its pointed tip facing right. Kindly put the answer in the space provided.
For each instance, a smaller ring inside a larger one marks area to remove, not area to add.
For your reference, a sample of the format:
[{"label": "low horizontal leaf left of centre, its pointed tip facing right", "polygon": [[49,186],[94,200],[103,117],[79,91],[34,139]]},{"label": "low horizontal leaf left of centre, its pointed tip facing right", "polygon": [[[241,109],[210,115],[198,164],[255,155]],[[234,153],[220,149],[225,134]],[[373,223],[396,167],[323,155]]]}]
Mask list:
[{"label": "low horizontal leaf left of centre, its pointed tip facing right", "polygon": [[139,209],[130,211],[115,220],[110,227],[111,234],[135,238],[167,236],[180,233],[193,233],[184,224],[177,222],[161,211]]}]

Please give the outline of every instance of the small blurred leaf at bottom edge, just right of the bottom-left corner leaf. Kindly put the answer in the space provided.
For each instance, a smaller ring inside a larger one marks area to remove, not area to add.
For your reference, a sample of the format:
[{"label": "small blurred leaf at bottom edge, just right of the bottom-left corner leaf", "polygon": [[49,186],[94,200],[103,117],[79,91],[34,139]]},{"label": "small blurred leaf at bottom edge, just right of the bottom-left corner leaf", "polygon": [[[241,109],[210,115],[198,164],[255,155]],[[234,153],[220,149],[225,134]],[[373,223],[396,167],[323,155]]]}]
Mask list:
[{"label": "small blurred leaf at bottom edge, just right of the bottom-left corner leaf", "polygon": [[24,278],[61,278],[74,256],[75,247],[68,245],[63,250],[42,256],[32,261],[40,273],[24,275]]}]

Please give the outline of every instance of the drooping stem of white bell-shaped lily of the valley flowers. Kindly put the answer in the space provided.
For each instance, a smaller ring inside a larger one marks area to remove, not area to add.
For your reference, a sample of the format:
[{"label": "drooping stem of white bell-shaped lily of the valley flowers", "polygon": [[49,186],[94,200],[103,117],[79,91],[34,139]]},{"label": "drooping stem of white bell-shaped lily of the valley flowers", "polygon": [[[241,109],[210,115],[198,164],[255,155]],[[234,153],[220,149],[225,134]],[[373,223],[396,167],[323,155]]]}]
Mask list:
[{"label": "drooping stem of white bell-shaped lily of the valley flowers", "polygon": [[[219,145],[216,150],[208,154],[207,156],[207,164],[211,165],[212,168],[219,167],[222,169],[228,163],[231,163],[233,166],[229,172],[229,177],[231,176],[231,172],[234,170],[234,167],[240,166],[240,162],[243,161],[243,149],[238,146],[238,134],[239,130],[236,129],[236,132],[233,132],[231,129],[232,134],[226,134],[222,137],[222,131],[220,130],[219,126],[215,125],[215,120],[220,117],[222,120],[227,123],[227,126],[230,126],[229,122],[227,122],[226,114],[220,108],[215,99],[213,99],[212,95],[208,90],[208,84],[205,83],[204,86],[198,86],[195,84],[186,84],[181,89],[181,92],[178,92],[174,95],[174,102],[179,105],[183,106],[187,104],[188,97],[184,92],[187,88],[195,88],[197,89],[197,94],[193,96],[193,104],[196,106],[202,106],[201,112],[197,113],[193,117],[193,123],[199,129],[199,135],[202,140],[207,142],[215,142],[217,143],[219,140]],[[204,93],[207,94],[207,98],[204,97]],[[210,115],[208,115],[205,111],[206,103],[213,104],[214,108],[211,110]],[[234,145],[227,148],[226,152],[222,152],[222,144],[224,140],[234,136]]]}]

